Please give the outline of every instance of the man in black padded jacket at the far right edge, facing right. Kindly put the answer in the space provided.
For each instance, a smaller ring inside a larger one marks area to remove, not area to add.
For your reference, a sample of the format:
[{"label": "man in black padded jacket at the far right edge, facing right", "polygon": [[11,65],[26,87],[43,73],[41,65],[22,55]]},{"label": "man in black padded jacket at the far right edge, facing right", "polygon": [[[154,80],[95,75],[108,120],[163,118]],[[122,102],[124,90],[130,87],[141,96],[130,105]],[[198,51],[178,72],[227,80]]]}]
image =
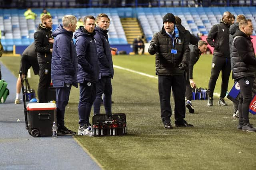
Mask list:
[{"label": "man in black padded jacket at the far right edge, facing right", "polygon": [[249,106],[252,100],[252,86],[256,77],[256,58],[250,35],[252,35],[252,20],[241,20],[239,29],[234,34],[232,48],[234,80],[240,86],[240,98],[238,104],[239,124],[236,129],[255,132],[249,122]]}]

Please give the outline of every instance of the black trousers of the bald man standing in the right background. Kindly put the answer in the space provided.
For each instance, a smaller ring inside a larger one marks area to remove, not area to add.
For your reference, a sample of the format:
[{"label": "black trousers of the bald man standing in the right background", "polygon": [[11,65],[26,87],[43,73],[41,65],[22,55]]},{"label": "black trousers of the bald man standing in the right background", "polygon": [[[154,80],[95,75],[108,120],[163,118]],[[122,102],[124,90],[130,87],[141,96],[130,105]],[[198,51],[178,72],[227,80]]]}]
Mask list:
[{"label": "black trousers of the bald man standing in the right background", "polygon": [[[227,49],[228,50],[228,49]],[[226,57],[212,57],[212,72],[208,85],[208,96],[212,98],[214,88],[216,85],[216,81],[220,75],[220,71],[222,72],[221,78],[221,86],[220,86],[220,98],[224,98],[226,96],[226,92],[228,90],[228,79],[231,72],[230,58]]]}]

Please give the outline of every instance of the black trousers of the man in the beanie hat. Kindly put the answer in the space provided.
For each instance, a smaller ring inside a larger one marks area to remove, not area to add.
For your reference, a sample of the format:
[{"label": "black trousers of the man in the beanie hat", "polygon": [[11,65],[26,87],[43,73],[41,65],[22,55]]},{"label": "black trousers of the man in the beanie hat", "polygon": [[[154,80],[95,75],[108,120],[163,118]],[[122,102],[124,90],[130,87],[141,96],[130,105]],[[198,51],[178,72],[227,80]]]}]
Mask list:
[{"label": "black trousers of the man in the beanie hat", "polygon": [[170,105],[171,89],[174,95],[174,117],[178,122],[185,118],[185,78],[184,75],[158,76],[161,118],[164,124],[170,123],[172,108]]}]

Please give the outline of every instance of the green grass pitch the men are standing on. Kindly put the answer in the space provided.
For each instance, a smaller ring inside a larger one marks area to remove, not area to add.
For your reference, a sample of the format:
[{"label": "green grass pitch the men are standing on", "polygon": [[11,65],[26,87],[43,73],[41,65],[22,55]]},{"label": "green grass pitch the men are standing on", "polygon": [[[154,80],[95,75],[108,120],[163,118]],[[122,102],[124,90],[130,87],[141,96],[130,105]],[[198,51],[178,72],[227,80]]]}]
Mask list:
[{"label": "green grass pitch the men are standing on", "polygon": [[[211,60],[211,55],[202,55],[194,66],[194,80],[198,87],[208,87]],[[19,57],[3,56],[0,61],[18,76]],[[154,56],[116,55],[113,61],[116,66],[155,75]],[[194,127],[164,129],[160,118],[157,79],[118,68],[114,70],[112,112],[126,113],[128,135],[75,136],[104,169],[256,169],[256,133],[236,130],[238,119],[232,118],[232,102],[228,99],[228,106],[216,106],[218,96],[214,96],[213,107],[207,107],[206,100],[192,101],[195,113],[190,114],[186,109],[185,119]],[[220,79],[216,84],[216,93],[220,93]],[[32,73],[29,81],[37,91],[38,76]],[[229,90],[232,84],[230,77]],[[79,90],[72,87],[65,122],[74,131],[78,130],[78,96]],[[173,108],[173,100],[171,102]],[[104,107],[101,107],[101,113],[104,113]],[[250,114],[250,121],[256,125],[255,115]],[[173,116],[171,123],[174,125]],[[83,166],[86,169],[86,165]]]}]

